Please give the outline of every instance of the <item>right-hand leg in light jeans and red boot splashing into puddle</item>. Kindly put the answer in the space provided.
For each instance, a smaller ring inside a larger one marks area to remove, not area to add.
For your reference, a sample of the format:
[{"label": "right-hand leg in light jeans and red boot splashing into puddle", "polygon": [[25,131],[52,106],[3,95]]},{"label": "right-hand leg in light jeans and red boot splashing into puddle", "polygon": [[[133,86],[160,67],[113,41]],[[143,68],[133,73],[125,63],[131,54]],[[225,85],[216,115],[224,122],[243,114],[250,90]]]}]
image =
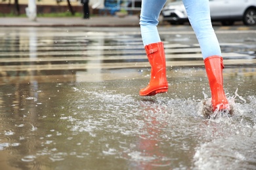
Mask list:
[{"label": "right-hand leg in light jeans and red boot splashing into puddle", "polygon": [[213,110],[229,110],[223,90],[223,58],[219,41],[211,25],[209,1],[183,0],[183,3],[202,50]]}]

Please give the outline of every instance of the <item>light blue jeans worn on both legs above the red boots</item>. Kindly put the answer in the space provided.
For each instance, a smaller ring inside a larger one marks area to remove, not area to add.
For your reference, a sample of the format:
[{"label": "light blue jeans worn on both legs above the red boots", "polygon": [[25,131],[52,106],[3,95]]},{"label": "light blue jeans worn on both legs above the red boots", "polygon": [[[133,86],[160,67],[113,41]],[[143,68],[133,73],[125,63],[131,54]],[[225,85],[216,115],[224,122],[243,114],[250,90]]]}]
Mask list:
[{"label": "light blue jeans worn on both legs above the red boots", "polygon": [[[166,0],[142,0],[140,31],[144,46],[161,41],[157,25],[165,3]],[[219,41],[211,25],[209,0],[183,0],[183,4],[196,33],[203,59],[221,56]]]}]

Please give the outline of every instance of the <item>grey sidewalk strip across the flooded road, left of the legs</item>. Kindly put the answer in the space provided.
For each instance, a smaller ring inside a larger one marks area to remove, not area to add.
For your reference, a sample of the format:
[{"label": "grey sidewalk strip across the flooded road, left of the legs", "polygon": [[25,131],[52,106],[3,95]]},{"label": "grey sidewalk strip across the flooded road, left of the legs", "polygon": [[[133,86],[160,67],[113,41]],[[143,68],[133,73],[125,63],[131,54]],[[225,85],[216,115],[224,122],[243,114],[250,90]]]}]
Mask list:
[{"label": "grey sidewalk strip across the flooded road, left of the legs", "polygon": [[85,27],[139,27],[139,16],[129,15],[123,18],[117,16],[93,16],[89,20],[83,18],[37,18],[33,22],[29,18],[0,18],[0,27],[67,27],[67,26],[85,26]]}]

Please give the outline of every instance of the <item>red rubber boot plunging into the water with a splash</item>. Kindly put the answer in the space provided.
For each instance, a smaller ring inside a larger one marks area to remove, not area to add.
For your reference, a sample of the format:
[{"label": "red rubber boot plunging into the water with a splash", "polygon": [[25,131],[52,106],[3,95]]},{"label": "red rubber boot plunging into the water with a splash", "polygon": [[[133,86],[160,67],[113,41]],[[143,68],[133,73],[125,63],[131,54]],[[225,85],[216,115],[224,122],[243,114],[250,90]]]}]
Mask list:
[{"label": "red rubber boot plunging into the water with a splash", "polygon": [[211,103],[213,111],[230,110],[228,100],[223,90],[223,58],[221,56],[210,56],[204,59],[205,70],[211,88]]}]

